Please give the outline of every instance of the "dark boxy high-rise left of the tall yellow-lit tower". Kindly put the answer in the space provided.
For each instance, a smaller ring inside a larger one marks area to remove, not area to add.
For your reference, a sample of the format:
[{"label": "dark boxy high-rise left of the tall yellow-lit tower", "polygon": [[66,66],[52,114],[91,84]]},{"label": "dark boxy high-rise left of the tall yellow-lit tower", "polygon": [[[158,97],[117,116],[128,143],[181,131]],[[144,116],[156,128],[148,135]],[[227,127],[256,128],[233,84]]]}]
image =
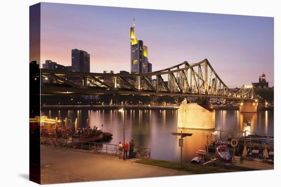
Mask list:
[{"label": "dark boxy high-rise left of the tall yellow-lit tower", "polygon": [[90,54],[84,50],[72,49],[72,70],[78,72],[90,72]]}]

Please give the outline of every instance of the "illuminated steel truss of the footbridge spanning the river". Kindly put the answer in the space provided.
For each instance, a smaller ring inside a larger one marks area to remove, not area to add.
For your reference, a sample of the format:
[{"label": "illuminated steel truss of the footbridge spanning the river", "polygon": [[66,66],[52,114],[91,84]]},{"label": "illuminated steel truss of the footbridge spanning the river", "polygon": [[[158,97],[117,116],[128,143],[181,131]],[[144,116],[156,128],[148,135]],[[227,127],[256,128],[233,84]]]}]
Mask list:
[{"label": "illuminated steel truss of the footbridge spanning the river", "polygon": [[144,74],[41,69],[41,94],[118,94],[255,99],[253,86],[230,89],[207,59]]}]

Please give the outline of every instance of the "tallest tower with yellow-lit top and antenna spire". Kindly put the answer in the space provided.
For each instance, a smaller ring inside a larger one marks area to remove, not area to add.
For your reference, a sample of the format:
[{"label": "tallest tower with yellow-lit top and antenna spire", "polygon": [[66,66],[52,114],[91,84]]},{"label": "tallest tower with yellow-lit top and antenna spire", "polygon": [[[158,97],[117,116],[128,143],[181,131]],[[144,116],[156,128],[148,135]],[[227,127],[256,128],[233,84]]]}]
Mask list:
[{"label": "tallest tower with yellow-lit top and antenna spire", "polygon": [[147,73],[148,59],[147,46],[142,40],[137,40],[135,37],[135,18],[130,31],[131,39],[131,73]]}]

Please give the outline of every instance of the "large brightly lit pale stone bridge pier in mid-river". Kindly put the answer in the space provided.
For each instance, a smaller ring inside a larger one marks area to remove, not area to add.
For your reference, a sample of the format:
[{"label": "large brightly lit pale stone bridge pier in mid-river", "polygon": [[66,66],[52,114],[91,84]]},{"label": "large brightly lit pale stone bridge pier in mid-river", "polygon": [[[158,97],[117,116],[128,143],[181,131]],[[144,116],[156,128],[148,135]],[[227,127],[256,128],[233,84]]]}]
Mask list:
[{"label": "large brightly lit pale stone bridge pier in mid-river", "polygon": [[184,99],[178,109],[178,128],[215,129],[215,112]]}]

